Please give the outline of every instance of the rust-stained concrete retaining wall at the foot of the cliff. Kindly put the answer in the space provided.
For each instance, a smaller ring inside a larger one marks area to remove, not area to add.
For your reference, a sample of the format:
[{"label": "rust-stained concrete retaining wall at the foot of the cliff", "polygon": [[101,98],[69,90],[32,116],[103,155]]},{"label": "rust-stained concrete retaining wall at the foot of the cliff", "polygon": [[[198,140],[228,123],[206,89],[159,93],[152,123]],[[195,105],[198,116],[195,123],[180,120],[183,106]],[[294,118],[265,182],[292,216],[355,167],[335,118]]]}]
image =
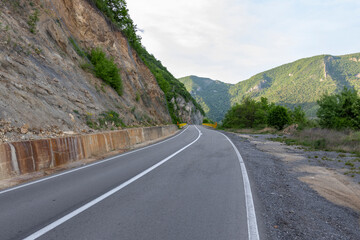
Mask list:
[{"label": "rust-stained concrete retaining wall at the foot of the cliff", "polygon": [[0,179],[51,169],[176,132],[176,125],[0,144]]}]

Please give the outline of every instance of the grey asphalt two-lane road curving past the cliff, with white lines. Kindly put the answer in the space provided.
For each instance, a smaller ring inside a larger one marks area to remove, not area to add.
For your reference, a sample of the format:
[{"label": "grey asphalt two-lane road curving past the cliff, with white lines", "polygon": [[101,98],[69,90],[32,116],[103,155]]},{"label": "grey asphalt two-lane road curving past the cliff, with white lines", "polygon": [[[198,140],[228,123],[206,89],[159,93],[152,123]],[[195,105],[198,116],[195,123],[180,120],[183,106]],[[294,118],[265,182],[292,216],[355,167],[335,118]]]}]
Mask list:
[{"label": "grey asphalt two-lane road curving past the cliff, with white lines", "polygon": [[0,239],[259,239],[236,151],[225,135],[189,126],[160,143],[2,191]]}]

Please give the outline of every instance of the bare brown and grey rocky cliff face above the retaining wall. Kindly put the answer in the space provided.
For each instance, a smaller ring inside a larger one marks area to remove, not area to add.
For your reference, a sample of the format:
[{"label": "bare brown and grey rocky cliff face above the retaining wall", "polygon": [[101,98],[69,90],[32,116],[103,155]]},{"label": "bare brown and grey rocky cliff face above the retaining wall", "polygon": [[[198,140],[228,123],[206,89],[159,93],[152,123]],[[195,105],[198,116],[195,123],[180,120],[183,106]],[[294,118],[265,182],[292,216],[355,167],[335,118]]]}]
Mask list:
[{"label": "bare brown and grey rocky cliff face above the retaining wall", "polygon": [[[171,122],[150,70],[86,0],[1,1],[0,9],[0,119],[13,129],[86,132],[87,120],[109,110],[126,125]],[[122,96],[80,67],[77,47],[114,58]]]}]

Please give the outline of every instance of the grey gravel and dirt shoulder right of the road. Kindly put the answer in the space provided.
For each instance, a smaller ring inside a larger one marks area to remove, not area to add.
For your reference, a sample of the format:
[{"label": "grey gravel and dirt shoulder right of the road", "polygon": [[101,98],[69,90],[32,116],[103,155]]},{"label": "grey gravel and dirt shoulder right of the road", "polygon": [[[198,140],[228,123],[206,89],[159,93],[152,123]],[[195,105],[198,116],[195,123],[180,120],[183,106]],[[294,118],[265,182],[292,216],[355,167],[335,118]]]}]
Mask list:
[{"label": "grey gravel and dirt shoulder right of the road", "polygon": [[360,239],[356,156],[225,134],[245,161],[262,239]]}]

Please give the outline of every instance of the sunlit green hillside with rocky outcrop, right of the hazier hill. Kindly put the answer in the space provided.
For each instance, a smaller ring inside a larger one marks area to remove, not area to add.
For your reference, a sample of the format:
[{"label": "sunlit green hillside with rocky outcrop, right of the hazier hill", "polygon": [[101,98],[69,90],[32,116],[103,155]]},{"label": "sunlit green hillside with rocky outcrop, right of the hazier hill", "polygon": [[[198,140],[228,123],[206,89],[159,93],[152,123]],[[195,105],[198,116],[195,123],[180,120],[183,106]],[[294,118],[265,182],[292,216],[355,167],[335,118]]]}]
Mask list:
[{"label": "sunlit green hillside with rocky outcrop, right of the hazier hill", "polygon": [[344,86],[360,89],[360,53],[304,58],[257,74],[230,88],[231,103],[244,96],[266,97],[271,102],[302,105],[309,116],[315,116],[316,101],[324,93],[342,90]]}]

